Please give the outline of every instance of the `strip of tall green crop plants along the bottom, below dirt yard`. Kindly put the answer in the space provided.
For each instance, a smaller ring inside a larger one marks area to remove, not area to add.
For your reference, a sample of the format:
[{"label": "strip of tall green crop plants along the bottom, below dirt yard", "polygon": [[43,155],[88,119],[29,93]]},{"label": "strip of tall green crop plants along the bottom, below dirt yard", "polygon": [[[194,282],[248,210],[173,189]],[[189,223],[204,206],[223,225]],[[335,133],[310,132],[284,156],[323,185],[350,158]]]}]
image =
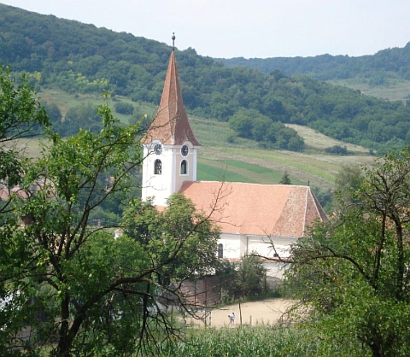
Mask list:
[{"label": "strip of tall green crop plants along the bottom, below dirt yard", "polygon": [[290,326],[241,326],[221,329],[191,329],[185,341],[168,344],[162,356],[352,356],[366,357],[360,345],[322,347],[310,329]]}]

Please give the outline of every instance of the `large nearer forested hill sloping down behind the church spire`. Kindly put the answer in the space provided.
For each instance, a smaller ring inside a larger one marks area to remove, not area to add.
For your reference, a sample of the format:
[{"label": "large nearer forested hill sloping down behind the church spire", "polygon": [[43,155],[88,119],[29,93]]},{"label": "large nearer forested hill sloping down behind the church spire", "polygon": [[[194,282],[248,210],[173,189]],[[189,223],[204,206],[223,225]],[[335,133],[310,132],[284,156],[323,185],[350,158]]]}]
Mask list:
[{"label": "large nearer forested hill sloping down behind the church spire", "polygon": [[[29,72],[36,89],[128,96],[158,104],[170,46],[0,4],[0,62]],[[248,67],[176,51],[182,92],[191,113],[229,121],[237,135],[269,148],[303,150],[282,123],[308,125],[326,135],[373,148],[410,140],[410,108],[280,71]],[[230,138],[232,139],[232,138]]]}]

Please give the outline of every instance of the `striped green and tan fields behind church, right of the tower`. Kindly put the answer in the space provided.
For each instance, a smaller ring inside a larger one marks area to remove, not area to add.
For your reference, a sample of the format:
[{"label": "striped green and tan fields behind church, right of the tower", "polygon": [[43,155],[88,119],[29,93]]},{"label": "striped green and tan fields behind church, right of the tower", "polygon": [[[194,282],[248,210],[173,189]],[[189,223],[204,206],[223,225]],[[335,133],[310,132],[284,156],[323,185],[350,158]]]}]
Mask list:
[{"label": "striped green and tan fields behind church, right of the tower", "polygon": [[[191,123],[202,144],[198,154],[200,180],[220,180],[225,177],[227,181],[278,183],[287,171],[295,184],[310,182],[321,188],[333,188],[335,175],[342,165],[367,165],[374,160],[374,157],[368,155],[368,150],[361,146],[345,144],[300,125],[289,126],[304,138],[309,147],[308,152],[312,153],[264,150],[257,142],[242,138],[228,143],[227,137],[233,131],[227,122],[192,117]],[[324,149],[333,145],[346,145],[352,155],[326,154]],[[232,164],[232,160],[250,166],[240,168],[238,164]],[[263,169],[269,172],[257,172]]]}]

